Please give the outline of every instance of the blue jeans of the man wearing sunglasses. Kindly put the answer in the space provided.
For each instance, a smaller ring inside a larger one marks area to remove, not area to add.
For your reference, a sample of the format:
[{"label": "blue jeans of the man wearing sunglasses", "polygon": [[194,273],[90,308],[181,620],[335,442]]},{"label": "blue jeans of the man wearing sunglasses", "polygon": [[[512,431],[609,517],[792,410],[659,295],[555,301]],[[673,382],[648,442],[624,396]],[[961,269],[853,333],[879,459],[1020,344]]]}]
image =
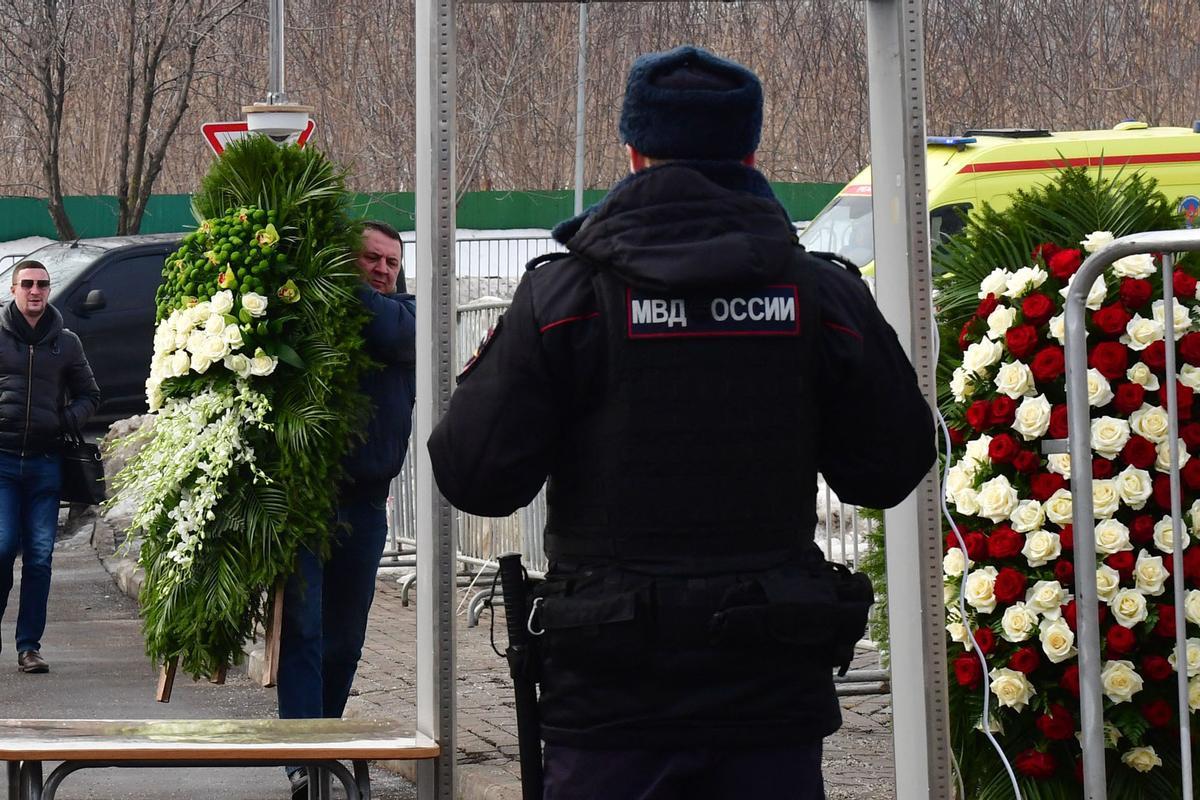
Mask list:
[{"label": "blue jeans of the man wearing sunglasses", "polygon": [[0,619],[8,604],[19,552],[18,652],[42,649],[61,481],[62,459],[58,453],[22,458],[0,452]]}]

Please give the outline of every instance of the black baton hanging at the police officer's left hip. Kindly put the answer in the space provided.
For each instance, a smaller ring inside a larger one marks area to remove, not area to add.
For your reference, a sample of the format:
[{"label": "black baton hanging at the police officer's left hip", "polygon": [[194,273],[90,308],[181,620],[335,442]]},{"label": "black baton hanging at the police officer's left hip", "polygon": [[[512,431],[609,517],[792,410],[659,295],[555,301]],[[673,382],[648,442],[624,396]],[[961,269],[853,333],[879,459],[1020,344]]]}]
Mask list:
[{"label": "black baton hanging at the police officer's left hip", "polygon": [[509,628],[509,660],[512,690],[516,694],[517,745],[521,748],[521,798],[541,800],[541,723],[538,718],[538,681],[533,670],[529,619],[529,597],[520,553],[508,553],[499,559],[500,591],[504,596],[504,619]]}]

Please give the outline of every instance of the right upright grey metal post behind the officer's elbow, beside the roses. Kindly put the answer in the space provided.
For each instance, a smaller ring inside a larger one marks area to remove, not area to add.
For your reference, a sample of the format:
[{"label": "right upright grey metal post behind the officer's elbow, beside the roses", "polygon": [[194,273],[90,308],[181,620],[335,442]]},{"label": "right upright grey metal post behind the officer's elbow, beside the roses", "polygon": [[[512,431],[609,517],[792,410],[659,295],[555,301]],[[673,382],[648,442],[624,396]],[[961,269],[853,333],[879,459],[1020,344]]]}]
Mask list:
[{"label": "right upright grey metal post behind the officer's elbow, beside the roses", "polygon": [[[920,0],[868,0],[876,297],[936,408],[923,36]],[[930,471],[883,518],[899,800],[952,796],[938,491]]]}]

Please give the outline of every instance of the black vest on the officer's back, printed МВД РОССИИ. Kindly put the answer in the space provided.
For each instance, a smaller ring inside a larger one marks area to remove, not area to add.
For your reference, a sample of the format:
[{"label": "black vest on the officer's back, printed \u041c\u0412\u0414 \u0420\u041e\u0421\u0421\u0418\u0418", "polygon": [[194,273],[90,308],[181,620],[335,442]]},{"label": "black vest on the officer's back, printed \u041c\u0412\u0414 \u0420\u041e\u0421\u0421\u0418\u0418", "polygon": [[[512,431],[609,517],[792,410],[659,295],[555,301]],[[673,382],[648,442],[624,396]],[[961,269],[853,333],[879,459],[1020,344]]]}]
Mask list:
[{"label": "black vest on the officer's back, printed \u041c\u0412\u0414 \u0420\u041e\u0421\u0421\u0418\u0418", "polygon": [[552,561],[692,572],[812,541],[820,320],[806,260],[797,251],[768,285],[672,294],[598,271],[604,398],[550,477]]}]

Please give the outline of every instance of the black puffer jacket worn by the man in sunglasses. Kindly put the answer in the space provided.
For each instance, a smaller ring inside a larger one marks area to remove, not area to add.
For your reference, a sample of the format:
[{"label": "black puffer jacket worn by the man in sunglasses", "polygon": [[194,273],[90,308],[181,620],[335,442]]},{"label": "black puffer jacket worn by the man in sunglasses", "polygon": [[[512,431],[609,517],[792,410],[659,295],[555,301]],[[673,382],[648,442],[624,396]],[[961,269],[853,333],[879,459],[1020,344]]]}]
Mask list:
[{"label": "black puffer jacket worn by the man in sunglasses", "polygon": [[10,302],[0,312],[0,450],[18,456],[60,449],[67,428],[82,427],[100,405],[100,387],[79,337],[58,308],[30,330]]}]

